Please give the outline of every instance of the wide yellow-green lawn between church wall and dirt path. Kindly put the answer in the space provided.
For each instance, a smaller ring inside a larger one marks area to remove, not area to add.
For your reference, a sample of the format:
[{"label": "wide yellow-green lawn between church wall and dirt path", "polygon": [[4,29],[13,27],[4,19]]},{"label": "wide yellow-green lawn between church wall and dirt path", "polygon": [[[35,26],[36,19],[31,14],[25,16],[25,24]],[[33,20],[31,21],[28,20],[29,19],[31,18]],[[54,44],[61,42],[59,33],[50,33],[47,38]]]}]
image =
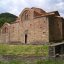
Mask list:
[{"label": "wide yellow-green lawn between church wall and dirt path", "polygon": [[0,44],[0,55],[47,56],[48,45]]}]

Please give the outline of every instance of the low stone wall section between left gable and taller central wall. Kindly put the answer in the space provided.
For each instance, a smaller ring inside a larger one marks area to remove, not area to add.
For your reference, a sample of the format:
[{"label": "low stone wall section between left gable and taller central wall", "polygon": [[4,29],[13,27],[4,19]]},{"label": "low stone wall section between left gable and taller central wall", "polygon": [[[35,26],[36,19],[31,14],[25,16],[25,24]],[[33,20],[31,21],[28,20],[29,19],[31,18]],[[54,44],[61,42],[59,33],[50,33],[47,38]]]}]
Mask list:
[{"label": "low stone wall section between left gable and taller central wall", "polygon": [[10,42],[19,42],[19,23],[13,23],[10,26]]}]

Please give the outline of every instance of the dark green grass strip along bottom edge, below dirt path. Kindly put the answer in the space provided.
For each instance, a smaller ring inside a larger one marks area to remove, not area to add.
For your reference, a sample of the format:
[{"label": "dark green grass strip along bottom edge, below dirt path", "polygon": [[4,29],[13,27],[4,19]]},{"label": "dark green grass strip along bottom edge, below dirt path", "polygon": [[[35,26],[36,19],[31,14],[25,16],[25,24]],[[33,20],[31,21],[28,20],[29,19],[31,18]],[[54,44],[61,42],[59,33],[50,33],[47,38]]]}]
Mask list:
[{"label": "dark green grass strip along bottom edge, below dirt path", "polygon": [[34,60],[34,61],[0,61],[0,64],[64,64],[64,60]]}]

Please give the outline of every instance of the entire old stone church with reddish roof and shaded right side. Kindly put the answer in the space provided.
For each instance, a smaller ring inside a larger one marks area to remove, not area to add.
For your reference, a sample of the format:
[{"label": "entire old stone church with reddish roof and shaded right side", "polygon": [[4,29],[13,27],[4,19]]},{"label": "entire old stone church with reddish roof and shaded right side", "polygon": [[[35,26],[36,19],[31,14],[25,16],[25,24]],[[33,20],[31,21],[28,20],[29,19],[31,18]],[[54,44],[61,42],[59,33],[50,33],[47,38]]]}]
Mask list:
[{"label": "entire old stone church with reddish roof and shaded right side", "polygon": [[58,11],[25,8],[14,23],[0,28],[0,43],[46,44],[64,39],[64,22]]}]

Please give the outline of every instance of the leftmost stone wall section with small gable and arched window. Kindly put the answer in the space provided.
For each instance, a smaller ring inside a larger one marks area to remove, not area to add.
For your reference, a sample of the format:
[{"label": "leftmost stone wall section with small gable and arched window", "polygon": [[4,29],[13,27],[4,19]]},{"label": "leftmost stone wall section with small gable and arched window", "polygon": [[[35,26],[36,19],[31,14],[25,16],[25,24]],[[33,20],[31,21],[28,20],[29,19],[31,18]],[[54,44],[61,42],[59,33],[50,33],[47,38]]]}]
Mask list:
[{"label": "leftmost stone wall section with small gable and arched window", "polygon": [[[5,29],[6,28],[6,29]],[[10,25],[5,23],[0,29],[0,43],[9,43]]]}]

